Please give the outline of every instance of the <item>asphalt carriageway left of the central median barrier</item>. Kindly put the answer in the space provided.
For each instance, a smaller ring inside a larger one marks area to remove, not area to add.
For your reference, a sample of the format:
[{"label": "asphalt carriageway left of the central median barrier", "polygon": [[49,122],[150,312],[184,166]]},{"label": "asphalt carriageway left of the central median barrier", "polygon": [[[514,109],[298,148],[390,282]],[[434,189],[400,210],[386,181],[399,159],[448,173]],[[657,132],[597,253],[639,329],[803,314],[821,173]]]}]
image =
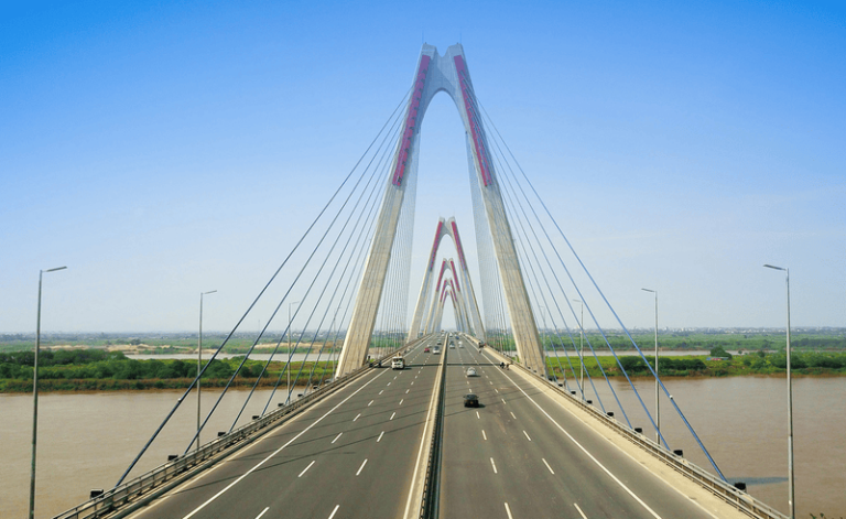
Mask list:
[{"label": "asphalt carriageway left of the central median barrier", "polygon": [[137,518],[397,518],[405,508],[440,357],[349,388],[139,511]]}]

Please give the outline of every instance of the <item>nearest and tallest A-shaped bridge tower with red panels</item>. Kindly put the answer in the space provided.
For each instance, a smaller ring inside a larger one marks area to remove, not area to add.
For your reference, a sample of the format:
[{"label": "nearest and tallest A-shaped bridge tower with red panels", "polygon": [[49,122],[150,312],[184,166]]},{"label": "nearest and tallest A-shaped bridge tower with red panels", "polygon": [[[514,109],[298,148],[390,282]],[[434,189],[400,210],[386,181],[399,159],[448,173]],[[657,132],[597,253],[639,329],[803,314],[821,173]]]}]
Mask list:
[{"label": "nearest and tallest A-shaped bridge tower with red panels", "polygon": [[[440,91],[445,91],[453,99],[464,122],[467,147],[471,155],[470,162],[475,170],[473,181],[478,183],[481,193],[517,353],[525,366],[545,375],[543,347],[532,315],[511,227],[506,216],[499,182],[488,152],[488,141],[460,44],[447,48],[443,56],[438,55],[437,48],[432,45],[424,44],[421,51],[413,94],[405,109],[405,130],[400,137],[391,165],[376,233],[356,295],[352,317],[338,359],[337,375],[346,375],[359,368],[367,359],[367,350],[376,326],[376,316],[391,259],[391,247],[405,195],[406,183],[403,180],[416,173],[421,121],[432,98]],[[471,188],[476,187],[471,186]]]}]

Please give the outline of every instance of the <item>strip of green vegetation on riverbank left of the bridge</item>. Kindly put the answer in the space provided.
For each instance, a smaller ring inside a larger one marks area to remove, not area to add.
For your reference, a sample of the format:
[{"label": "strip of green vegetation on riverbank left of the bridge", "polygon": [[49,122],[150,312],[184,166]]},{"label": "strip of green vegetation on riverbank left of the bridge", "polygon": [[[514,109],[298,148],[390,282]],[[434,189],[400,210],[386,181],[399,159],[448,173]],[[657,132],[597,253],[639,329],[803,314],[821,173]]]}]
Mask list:
[{"label": "strip of green vegetation on riverbank left of the bridge", "polygon": [[[226,385],[243,357],[215,359],[203,375],[205,387]],[[0,354],[0,392],[32,391],[33,352]],[[236,377],[236,386],[251,386],[261,374],[264,361],[248,360]],[[291,363],[292,374],[300,369],[307,377],[314,369],[318,379],[329,375],[328,363]],[[273,386],[283,372],[284,363],[273,361],[264,371],[260,386]],[[73,349],[42,352],[39,356],[39,388],[42,390],[91,389],[165,389],[187,388],[197,372],[191,360],[137,360],[121,352]],[[304,383],[304,381],[302,382]]]}]

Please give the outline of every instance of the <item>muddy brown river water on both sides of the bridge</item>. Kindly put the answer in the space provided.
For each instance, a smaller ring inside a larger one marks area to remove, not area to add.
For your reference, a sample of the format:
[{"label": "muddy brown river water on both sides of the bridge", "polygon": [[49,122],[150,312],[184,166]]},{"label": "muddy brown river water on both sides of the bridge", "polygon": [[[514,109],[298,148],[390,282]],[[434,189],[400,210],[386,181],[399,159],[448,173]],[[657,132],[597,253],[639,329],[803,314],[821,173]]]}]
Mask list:
[{"label": "muddy brown river water on both sides of the bridge", "polygon": [[[810,518],[810,513],[820,512],[846,517],[846,377],[800,377],[793,382],[796,517]],[[604,380],[595,383],[606,410],[615,411],[616,418],[625,422],[608,385]],[[654,381],[636,380],[634,385],[652,412]],[[642,426],[644,434],[654,437],[628,382],[615,379],[611,386],[632,425]],[[785,512],[785,379],[687,378],[668,380],[665,386],[726,478],[747,483],[751,495]],[[86,500],[91,488],[113,486],[181,394],[42,393],[36,517],[53,517]],[[214,390],[203,392],[204,412],[217,394]],[[209,422],[207,437],[231,425],[246,394],[237,391],[223,400],[216,413],[220,418]],[[257,391],[241,422],[258,414],[269,394],[270,390]],[[590,389],[587,398],[598,404]],[[271,406],[282,399],[284,396],[278,393]],[[167,454],[182,454],[196,430],[196,399],[191,396],[130,477],[165,462]],[[670,446],[684,450],[685,457],[714,473],[666,397],[661,400],[661,430]],[[0,394],[0,518],[26,516],[31,441],[32,397]]]}]

